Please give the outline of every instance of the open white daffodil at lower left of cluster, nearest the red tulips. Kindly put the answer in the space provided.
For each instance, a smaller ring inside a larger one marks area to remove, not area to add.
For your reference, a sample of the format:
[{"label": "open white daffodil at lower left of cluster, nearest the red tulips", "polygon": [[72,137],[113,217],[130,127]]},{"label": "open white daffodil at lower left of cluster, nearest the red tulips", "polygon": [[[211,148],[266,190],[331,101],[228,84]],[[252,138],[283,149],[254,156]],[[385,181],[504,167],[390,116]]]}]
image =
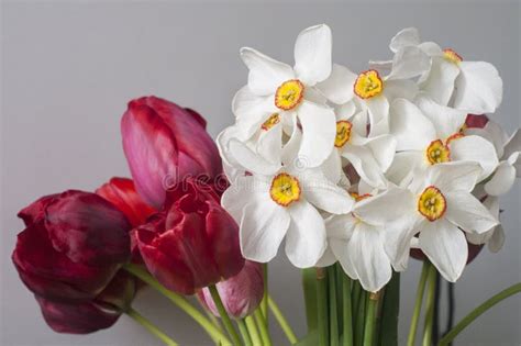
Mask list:
[{"label": "open white daffodil at lower left of cluster, nearest the red tulips", "polygon": [[274,165],[237,139],[229,146],[251,174],[232,181],[222,197],[222,205],[240,223],[243,256],[269,261],[286,236],[289,260],[299,268],[314,266],[326,248],[320,211],[347,213],[354,203],[351,196],[319,168],[284,159],[285,166]]}]

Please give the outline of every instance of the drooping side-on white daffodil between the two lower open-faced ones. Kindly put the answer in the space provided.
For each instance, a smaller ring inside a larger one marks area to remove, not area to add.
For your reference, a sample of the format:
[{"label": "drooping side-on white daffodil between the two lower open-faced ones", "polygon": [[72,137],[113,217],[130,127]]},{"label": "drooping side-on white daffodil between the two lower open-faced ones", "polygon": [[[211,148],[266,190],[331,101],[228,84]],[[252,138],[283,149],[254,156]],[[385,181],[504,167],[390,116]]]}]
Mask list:
[{"label": "drooping side-on white daffodil between the two lower open-faced ones", "polygon": [[392,275],[385,250],[386,233],[409,233],[410,225],[401,217],[411,209],[409,193],[391,188],[378,196],[357,196],[350,214],[326,219],[330,248],[325,257],[329,258],[321,259],[320,265],[339,260],[344,271],[359,280],[366,291],[379,291]]}]

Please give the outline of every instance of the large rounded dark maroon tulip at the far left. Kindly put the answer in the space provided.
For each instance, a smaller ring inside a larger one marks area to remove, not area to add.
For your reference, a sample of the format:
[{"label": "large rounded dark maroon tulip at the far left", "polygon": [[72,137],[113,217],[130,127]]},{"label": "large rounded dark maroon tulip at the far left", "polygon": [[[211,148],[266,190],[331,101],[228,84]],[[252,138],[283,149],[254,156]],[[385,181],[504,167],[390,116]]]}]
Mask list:
[{"label": "large rounded dark maroon tulip at the far left", "polygon": [[12,259],[25,286],[42,298],[92,299],[129,260],[129,221],[95,193],[44,197],[20,216],[27,226]]}]

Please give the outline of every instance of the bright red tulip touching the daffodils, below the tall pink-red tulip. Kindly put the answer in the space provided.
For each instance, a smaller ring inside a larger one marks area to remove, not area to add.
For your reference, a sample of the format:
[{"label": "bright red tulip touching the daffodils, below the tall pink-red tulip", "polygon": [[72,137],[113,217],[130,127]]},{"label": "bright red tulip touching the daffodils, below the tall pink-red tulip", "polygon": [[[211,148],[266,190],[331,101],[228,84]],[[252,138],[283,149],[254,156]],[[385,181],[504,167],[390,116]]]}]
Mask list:
[{"label": "bright red tulip touching the daffodils, below the tall pink-red tulip", "polygon": [[132,232],[148,271],[168,289],[193,294],[242,269],[239,226],[218,199],[188,179],[169,192],[171,205]]}]

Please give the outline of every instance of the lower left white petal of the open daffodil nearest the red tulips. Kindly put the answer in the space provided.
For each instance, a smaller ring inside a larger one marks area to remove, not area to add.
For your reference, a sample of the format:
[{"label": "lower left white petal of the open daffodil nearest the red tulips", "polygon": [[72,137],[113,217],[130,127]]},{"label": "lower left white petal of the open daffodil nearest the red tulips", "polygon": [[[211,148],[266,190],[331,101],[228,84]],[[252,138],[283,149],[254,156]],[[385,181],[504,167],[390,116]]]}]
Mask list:
[{"label": "lower left white petal of the open daffodil nearest the red tulips", "polygon": [[277,255],[288,231],[288,211],[268,197],[251,201],[241,221],[241,249],[246,259],[267,263]]}]

